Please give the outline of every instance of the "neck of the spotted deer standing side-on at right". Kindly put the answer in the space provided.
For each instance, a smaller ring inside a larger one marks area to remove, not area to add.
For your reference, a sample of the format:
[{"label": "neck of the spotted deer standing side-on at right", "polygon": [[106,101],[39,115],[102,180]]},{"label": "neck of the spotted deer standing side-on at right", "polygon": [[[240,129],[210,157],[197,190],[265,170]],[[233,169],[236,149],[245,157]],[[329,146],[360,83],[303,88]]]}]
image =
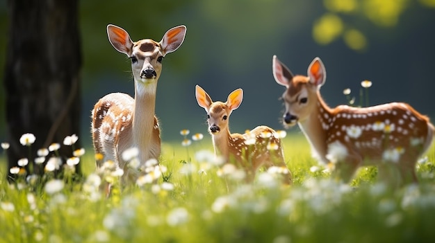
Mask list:
[{"label": "neck of the spotted deer standing side-on at right", "polygon": [[331,118],[331,108],[325,103],[318,91],[318,101],[315,104],[313,111],[309,117],[303,121],[299,121],[299,128],[302,129],[306,138],[311,145],[313,156],[318,157],[321,161],[327,161],[327,131],[325,125],[328,123],[328,118]]}]

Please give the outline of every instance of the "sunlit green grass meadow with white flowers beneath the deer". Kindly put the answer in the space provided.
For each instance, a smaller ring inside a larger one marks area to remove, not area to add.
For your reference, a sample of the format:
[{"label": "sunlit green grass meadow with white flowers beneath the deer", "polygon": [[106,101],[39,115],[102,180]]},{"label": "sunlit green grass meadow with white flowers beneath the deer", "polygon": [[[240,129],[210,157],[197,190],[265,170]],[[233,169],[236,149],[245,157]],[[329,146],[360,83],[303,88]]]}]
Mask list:
[{"label": "sunlit green grass meadow with white flowers beneath the deer", "polygon": [[[435,231],[435,150],[418,163],[418,185],[389,190],[375,168],[361,168],[350,184],[329,179],[301,134],[284,138],[294,184],[259,172],[252,184],[217,176],[195,154],[211,141],[163,145],[170,184],[128,186],[93,197],[76,183],[49,194],[0,180],[0,242],[423,242]],[[92,149],[81,158],[95,170]],[[4,156],[3,156],[4,159]],[[3,163],[4,165],[4,163]],[[189,173],[187,166],[194,169]],[[204,172],[198,172],[204,169]],[[5,168],[2,171],[4,174]],[[183,172],[183,173],[182,173]],[[161,185],[160,187],[156,185]],[[165,186],[173,185],[173,188]],[[116,189],[116,188],[115,188]],[[159,190],[158,190],[159,189]]]}]

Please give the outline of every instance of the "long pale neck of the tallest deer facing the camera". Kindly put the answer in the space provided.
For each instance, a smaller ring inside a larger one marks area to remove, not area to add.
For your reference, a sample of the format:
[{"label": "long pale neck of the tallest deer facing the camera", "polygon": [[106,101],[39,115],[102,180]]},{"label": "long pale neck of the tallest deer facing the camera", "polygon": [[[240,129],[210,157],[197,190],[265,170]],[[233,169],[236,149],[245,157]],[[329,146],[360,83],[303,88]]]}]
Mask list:
[{"label": "long pale neck of the tallest deer facing the camera", "polygon": [[[140,83],[138,83],[140,82]],[[156,110],[156,84],[135,80],[135,104],[133,114],[133,146],[145,154],[151,146]],[[147,156],[145,155],[144,156]],[[142,158],[149,159],[149,158]]]}]

